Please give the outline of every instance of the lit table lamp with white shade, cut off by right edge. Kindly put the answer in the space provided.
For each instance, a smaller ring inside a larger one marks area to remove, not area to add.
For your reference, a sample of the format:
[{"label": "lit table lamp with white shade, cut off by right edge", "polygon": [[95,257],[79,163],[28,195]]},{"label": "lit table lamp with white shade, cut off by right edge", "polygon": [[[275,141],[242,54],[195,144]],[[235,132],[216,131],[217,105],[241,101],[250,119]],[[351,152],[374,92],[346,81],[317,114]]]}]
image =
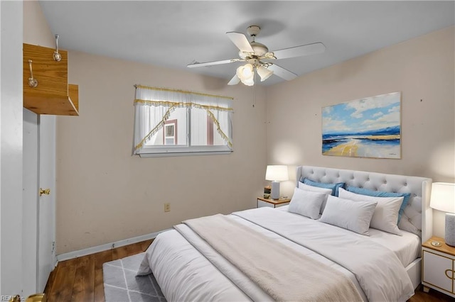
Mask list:
[{"label": "lit table lamp with white shade, cut off by right edge", "polygon": [[446,212],[446,234],[444,239],[447,245],[455,246],[455,184],[434,182],[429,206]]}]

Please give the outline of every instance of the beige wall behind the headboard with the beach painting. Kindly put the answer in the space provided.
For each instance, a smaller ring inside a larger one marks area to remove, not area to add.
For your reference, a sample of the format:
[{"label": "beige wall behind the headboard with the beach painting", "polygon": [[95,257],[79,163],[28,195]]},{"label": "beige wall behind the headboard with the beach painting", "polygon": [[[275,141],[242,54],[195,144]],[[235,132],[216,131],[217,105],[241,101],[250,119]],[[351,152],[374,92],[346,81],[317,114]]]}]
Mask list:
[{"label": "beige wall behind the headboard with the beach painting", "polygon": [[[289,164],[290,176],[307,164],[453,182],[454,36],[446,28],[269,87],[267,162]],[[321,107],[393,91],[402,92],[401,160],[321,155]]]}]

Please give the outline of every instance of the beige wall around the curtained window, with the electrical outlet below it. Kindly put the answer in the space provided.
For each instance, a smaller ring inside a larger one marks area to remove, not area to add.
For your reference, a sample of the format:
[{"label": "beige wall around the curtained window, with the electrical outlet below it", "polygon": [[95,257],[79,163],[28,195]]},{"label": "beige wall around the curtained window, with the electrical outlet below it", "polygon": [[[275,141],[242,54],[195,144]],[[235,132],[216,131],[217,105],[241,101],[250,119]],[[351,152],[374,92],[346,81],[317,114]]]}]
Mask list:
[{"label": "beige wall around the curtained window, with the electrical outlet below it", "polygon": [[[68,60],[80,116],[57,120],[57,254],[255,207],[266,167],[263,87],[82,52],[70,51]],[[234,97],[235,151],[132,156],[134,84]]]}]

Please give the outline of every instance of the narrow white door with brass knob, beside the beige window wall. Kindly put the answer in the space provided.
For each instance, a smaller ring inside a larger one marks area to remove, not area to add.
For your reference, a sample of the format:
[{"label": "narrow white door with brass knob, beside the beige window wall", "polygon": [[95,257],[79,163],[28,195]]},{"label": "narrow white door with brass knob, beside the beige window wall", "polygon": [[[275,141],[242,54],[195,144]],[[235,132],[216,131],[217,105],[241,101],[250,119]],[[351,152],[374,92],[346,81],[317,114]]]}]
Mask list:
[{"label": "narrow white door with brass knob, beside the beige window wall", "polygon": [[38,203],[38,292],[43,292],[55,263],[55,116],[38,116],[39,186],[49,189]]}]

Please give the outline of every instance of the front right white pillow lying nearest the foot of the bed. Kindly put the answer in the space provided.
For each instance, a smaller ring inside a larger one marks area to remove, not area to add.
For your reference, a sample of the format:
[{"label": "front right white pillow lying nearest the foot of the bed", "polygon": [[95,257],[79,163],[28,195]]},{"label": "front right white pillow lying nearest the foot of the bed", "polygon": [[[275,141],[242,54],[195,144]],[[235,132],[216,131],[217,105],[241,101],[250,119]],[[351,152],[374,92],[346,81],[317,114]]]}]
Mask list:
[{"label": "front right white pillow lying nearest the foot of the bed", "polygon": [[329,195],[320,221],[361,235],[370,235],[368,228],[375,213],[376,203],[378,202],[351,201]]}]

